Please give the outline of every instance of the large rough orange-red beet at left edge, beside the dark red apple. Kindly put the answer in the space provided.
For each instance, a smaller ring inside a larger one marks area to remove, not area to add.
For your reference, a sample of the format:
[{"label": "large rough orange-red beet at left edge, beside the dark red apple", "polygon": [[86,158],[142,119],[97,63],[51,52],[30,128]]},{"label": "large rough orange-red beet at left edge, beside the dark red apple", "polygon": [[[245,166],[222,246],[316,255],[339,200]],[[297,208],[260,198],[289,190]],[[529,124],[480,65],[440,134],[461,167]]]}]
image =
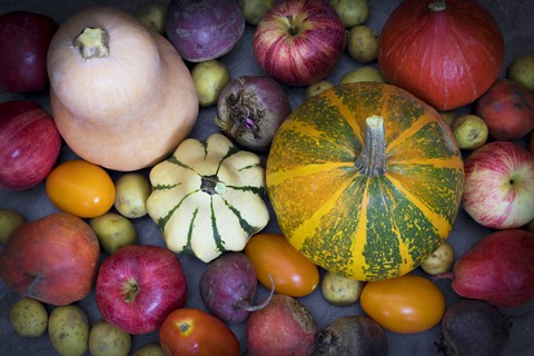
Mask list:
[{"label": "large rough orange-red beet at left edge, beside the dark red apple", "polygon": [[89,294],[99,258],[90,226],[55,212],[13,230],[0,251],[0,278],[21,296],[63,306]]}]

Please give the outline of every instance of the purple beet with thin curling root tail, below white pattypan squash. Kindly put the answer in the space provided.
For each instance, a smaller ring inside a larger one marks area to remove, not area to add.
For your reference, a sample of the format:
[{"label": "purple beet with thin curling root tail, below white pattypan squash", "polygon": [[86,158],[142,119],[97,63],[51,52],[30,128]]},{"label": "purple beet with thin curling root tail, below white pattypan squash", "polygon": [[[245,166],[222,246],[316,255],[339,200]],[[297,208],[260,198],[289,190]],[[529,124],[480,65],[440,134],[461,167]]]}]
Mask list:
[{"label": "purple beet with thin curling root tail, below white pattypan squash", "polygon": [[250,312],[265,307],[274,294],[253,305],[257,276],[253,263],[243,253],[226,253],[211,261],[200,277],[200,297],[206,308],[226,323],[247,319]]}]

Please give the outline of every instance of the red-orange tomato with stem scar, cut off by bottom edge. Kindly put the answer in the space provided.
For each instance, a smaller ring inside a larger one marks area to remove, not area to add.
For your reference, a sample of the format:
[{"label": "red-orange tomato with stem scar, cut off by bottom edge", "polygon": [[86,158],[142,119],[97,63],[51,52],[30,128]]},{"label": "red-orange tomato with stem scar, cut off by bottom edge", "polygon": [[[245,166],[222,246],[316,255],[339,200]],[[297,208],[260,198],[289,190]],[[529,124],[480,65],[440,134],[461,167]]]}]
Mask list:
[{"label": "red-orange tomato with stem scar, cut off by bottom edge", "polygon": [[195,308],[170,313],[159,328],[165,355],[239,356],[236,335],[219,318]]}]

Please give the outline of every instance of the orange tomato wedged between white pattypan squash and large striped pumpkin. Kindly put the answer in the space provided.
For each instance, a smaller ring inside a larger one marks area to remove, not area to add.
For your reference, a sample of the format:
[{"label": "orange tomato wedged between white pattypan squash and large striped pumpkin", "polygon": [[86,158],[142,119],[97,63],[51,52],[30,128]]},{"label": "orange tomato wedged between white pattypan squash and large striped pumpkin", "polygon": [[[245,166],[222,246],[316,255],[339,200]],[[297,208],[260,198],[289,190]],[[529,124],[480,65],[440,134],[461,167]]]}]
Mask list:
[{"label": "orange tomato wedged between white pattypan squash and large striped pumpkin", "polygon": [[319,284],[317,265],[295,249],[283,235],[255,235],[244,251],[253,263],[260,284],[270,289],[269,274],[273,276],[276,293],[303,297]]}]

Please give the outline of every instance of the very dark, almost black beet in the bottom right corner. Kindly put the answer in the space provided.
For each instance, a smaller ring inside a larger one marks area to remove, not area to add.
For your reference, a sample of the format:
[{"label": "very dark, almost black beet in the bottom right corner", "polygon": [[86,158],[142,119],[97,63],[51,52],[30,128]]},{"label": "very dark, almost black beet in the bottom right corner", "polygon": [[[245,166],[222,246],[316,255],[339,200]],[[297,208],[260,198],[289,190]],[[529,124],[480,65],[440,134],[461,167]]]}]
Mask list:
[{"label": "very dark, almost black beet in the bottom right corner", "polygon": [[463,299],[447,307],[438,350],[446,356],[500,355],[508,343],[512,318],[497,307]]}]

